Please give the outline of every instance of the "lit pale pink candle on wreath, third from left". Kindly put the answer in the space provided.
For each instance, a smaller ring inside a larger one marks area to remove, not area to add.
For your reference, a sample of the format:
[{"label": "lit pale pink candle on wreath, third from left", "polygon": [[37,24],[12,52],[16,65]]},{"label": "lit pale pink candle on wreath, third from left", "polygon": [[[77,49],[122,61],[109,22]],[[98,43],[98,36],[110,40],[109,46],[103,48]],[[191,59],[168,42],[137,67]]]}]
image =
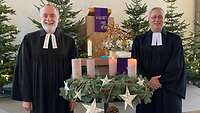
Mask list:
[{"label": "lit pale pink candle on wreath, third from left", "polygon": [[109,58],[109,75],[114,76],[117,73],[117,59],[114,57]]}]

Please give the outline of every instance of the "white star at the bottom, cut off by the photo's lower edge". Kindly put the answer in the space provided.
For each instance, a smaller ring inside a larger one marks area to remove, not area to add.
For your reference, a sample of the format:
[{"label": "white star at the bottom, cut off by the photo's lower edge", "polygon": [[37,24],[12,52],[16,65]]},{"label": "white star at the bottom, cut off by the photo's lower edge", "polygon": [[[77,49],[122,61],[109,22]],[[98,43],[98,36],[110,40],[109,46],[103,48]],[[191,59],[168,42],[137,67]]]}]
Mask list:
[{"label": "white star at the bottom, cut off by the photo's lower edge", "polygon": [[85,113],[100,113],[104,111],[101,108],[96,108],[96,99],[93,100],[91,106],[86,105],[86,104],[82,104],[82,105],[87,109]]}]

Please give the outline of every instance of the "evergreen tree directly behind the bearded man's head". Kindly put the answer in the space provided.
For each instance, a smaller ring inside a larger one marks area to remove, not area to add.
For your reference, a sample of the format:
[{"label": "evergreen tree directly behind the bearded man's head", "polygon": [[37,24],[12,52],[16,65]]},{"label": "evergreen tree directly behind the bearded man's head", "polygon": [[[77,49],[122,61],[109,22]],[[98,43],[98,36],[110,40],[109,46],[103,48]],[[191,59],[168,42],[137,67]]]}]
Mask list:
[{"label": "evergreen tree directly behind the bearded man's head", "polygon": [[[75,18],[80,11],[72,11],[72,3],[70,0],[47,0],[48,3],[54,4],[60,14],[58,28],[64,33],[66,36],[73,37],[76,41],[79,57],[86,57],[87,49],[87,41],[86,36],[82,31],[83,29],[83,19],[76,21]],[[41,0],[41,7],[46,3]],[[36,6],[39,10],[41,7]],[[31,18],[30,18],[31,19]],[[41,28],[40,22],[35,19],[31,19],[31,21],[36,25],[36,27]]]}]

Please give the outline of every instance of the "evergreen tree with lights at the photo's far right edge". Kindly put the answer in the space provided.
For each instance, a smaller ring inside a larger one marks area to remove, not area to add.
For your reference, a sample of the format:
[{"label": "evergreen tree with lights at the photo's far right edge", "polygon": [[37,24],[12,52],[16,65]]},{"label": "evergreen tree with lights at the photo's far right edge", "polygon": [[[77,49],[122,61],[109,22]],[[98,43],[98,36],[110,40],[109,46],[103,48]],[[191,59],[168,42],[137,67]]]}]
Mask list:
[{"label": "evergreen tree with lights at the photo's far right edge", "polygon": [[191,33],[185,47],[188,80],[200,87],[200,24],[195,23],[196,31]]}]

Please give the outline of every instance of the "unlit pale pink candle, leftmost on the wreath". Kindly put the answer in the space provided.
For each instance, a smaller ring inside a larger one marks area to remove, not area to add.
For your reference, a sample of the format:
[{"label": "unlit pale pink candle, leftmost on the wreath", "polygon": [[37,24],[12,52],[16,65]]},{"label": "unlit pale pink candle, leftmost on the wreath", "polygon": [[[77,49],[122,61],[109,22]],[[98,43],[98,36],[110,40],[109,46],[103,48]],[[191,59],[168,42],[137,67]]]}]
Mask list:
[{"label": "unlit pale pink candle, leftmost on the wreath", "polygon": [[80,79],[81,76],[81,59],[72,59],[72,79]]}]

